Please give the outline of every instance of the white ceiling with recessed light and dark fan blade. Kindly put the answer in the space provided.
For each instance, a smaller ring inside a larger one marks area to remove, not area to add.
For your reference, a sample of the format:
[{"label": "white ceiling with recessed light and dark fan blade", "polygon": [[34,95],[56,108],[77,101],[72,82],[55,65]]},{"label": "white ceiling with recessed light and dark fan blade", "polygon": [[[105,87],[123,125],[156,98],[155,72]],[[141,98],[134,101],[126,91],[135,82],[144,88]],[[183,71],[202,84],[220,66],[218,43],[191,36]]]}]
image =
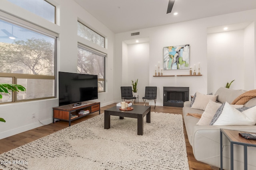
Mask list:
[{"label": "white ceiling with recessed light and dark fan blade", "polygon": [[74,1],[114,33],[256,9],[256,0],[176,0],[169,14],[169,0]]}]

